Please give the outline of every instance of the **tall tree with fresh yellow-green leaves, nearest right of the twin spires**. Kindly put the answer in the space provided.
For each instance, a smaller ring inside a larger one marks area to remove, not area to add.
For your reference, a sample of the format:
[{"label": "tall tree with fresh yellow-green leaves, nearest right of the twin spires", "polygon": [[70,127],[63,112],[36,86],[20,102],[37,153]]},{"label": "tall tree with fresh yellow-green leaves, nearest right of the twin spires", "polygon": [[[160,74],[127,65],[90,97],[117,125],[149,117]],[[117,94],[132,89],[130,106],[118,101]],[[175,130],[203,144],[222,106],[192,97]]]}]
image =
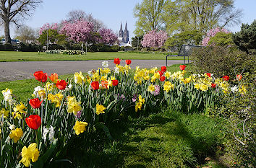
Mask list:
[{"label": "tall tree with fresh yellow-green leaves, nearest right of the twin spires", "polygon": [[137,18],[135,35],[144,35],[150,30],[163,29],[163,8],[165,0],[143,0],[134,9]]}]

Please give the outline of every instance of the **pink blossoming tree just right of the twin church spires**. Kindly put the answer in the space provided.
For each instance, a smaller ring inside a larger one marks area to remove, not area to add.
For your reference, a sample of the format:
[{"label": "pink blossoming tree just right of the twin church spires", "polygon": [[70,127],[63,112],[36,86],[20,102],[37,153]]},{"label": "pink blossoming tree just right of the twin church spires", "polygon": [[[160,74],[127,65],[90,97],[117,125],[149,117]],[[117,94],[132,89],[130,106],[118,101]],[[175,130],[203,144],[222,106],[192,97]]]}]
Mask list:
[{"label": "pink blossoming tree just right of the twin church spires", "polygon": [[166,42],[167,38],[168,35],[165,31],[160,30],[157,32],[155,30],[151,30],[143,36],[141,44],[145,48],[161,48],[163,47],[163,44]]}]

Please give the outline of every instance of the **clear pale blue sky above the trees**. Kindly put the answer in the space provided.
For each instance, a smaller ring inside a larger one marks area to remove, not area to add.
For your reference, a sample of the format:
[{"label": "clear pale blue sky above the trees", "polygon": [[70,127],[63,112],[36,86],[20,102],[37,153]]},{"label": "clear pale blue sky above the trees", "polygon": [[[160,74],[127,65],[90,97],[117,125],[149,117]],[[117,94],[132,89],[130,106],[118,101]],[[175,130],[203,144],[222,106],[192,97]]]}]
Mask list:
[{"label": "clear pale blue sky above the trees", "polygon": [[[25,25],[39,28],[46,22],[60,22],[65,19],[67,13],[73,9],[82,9],[93,17],[101,19],[106,27],[116,32],[119,30],[120,23],[127,22],[130,32],[130,39],[134,36],[136,19],[133,17],[135,4],[142,0],[43,0],[33,16],[25,20]],[[256,0],[235,0],[236,8],[243,9],[244,15],[242,22],[251,23],[256,19]],[[232,32],[240,30],[241,25],[229,27]],[[14,26],[11,26],[11,36],[14,37]],[[0,35],[4,35],[4,27],[0,29]]]}]

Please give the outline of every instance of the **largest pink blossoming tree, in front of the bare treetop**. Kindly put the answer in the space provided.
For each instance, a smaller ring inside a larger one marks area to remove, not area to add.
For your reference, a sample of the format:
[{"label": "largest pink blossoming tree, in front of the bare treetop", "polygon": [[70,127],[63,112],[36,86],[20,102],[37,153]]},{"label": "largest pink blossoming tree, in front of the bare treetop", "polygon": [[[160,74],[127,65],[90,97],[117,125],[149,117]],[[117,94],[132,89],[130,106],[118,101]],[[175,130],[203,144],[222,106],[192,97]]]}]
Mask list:
[{"label": "largest pink blossoming tree, in front of the bare treetop", "polygon": [[60,32],[69,37],[74,43],[88,42],[93,40],[93,23],[83,20],[64,22]]}]

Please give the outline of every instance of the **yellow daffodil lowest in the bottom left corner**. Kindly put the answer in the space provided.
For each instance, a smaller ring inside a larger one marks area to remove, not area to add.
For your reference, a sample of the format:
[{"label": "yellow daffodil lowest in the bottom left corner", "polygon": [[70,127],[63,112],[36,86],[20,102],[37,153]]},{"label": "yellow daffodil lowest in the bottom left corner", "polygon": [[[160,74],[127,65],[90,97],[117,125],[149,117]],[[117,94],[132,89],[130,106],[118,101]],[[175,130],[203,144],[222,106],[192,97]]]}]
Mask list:
[{"label": "yellow daffodil lowest in the bottom left corner", "polygon": [[22,148],[22,159],[20,163],[24,164],[25,167],[30,166],[30,160],[36,162],[39,157],[39,151],[37,149],[36,143],[31,143],[28,147],[24,146]]}]

